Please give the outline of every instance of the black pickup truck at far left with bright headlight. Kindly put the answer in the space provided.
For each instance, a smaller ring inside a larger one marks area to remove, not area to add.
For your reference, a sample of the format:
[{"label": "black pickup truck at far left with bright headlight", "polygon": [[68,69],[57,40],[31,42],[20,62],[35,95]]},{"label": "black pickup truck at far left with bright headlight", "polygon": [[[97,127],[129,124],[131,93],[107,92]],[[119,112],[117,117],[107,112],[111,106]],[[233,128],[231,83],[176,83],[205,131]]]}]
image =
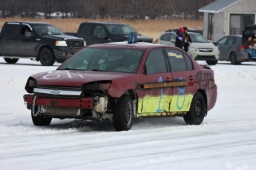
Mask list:
[{"label": "black pickup truck at far left with bright headlight", "polygon": [[0,56],[10,64],[19,58],[30,58],[52,66],[84,46],[82,38],[65,35],[54,25],[40,22],[9,21],[0,34]]}]

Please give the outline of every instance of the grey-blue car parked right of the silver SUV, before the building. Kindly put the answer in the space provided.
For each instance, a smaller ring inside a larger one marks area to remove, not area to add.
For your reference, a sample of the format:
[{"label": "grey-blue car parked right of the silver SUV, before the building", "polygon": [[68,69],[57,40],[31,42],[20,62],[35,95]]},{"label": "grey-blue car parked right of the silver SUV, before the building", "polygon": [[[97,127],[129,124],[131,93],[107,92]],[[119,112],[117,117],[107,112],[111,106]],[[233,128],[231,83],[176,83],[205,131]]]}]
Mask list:
[{"label": "grey-blue car parked right of the silver SUV, before the building", "polygon": [[214,42],[220,50],[220,61],[230,61],[231,64],[241,64],[250,61],[249,55],[244,51],[242,35],[227,35]]}]

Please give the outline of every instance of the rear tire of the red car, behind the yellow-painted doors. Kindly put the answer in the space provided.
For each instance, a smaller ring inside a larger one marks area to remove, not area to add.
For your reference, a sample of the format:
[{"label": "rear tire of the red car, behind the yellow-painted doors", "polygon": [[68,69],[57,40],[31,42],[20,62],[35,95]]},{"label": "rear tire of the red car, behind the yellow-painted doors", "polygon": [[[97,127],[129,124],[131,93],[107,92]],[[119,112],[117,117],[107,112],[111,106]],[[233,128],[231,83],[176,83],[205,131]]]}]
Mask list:
[{"label": "rear tire of the red car, behind the yellow-painted doors", "polygon": [[188,125],[200,125],[206,115],[206,102],[200,92],[196,92],[189,112],[183,117]]}]

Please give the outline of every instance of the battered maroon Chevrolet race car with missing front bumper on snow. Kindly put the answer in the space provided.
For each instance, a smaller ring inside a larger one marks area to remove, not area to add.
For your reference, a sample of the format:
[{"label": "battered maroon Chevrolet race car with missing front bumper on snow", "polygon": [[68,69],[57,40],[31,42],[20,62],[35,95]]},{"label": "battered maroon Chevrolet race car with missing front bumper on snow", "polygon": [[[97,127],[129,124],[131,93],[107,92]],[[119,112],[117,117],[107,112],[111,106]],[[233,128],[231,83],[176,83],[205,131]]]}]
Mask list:
[{"label": "battered maroon Chevrolet race car with missing front bumper on snow", "polygon": [[199,125],[215,105],[214,72],[186,52],[160,44],[96,44],[56,70],[28,78],[24,95],[33,124],[52,118],[113,120],[116,131],[134,118],[183,116]]}]

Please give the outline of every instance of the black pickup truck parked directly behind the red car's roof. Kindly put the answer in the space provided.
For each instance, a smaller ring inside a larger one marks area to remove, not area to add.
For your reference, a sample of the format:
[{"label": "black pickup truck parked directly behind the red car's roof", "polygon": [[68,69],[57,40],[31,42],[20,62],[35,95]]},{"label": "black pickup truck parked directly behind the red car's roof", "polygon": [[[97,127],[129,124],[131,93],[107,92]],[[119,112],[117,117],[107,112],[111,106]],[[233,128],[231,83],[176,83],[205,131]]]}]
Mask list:
[{"label": "black pickup truck parked directly behind the red car's roof", "polygon": [[[86,44],[91,45],[128,41],[128,37],[132,32],[137,33],[137,31],[128,24],[88,21],[80,24],[77,33],[66,34],[84,38]],[[153,38],[137,33],[137,41],[151,43]]]}]

